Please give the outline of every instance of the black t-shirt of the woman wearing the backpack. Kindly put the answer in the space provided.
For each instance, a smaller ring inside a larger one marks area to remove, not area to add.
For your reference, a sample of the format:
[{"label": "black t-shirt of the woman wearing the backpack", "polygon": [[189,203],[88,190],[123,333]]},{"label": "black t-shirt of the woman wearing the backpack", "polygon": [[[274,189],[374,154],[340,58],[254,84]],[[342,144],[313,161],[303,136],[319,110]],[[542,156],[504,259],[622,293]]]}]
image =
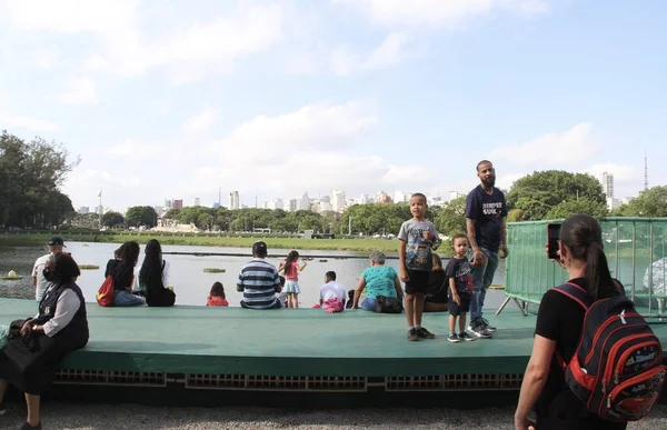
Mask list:
[{"label": "black t-shirt of the woman wearing the backpack", "polygon": [[[583,278],[569,282],[586,288]],[[584,308],[573,299],[555,291],[547,291],[539,304],[535,334],[556,341],[556,351],[566,362],[569,362],[577,350],[584,327]],[[565,373],[556,358],[551,359],[551,367],[547,382],[535,404],[538,414],[538,429],[625,429],[625,423],[604,421],[586,409],[566,386]],[[542,419],[541,427],[539,420]],[[578,427],[580,426],[580,427]]]}]

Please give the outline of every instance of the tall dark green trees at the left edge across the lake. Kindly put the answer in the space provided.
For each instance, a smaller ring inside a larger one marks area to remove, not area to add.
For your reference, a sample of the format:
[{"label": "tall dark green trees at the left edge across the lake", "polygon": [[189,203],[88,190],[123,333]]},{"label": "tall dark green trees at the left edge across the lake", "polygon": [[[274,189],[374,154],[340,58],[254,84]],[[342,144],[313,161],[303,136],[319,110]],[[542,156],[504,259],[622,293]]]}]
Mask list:
[{"label": "tall dark green trees at the left edge across the lake", "polygon": [[56,142],[24,141],[6,130],[0,136],[0,227],[40,229],[72,218],[72,202],[59,187],[79,164]]}]

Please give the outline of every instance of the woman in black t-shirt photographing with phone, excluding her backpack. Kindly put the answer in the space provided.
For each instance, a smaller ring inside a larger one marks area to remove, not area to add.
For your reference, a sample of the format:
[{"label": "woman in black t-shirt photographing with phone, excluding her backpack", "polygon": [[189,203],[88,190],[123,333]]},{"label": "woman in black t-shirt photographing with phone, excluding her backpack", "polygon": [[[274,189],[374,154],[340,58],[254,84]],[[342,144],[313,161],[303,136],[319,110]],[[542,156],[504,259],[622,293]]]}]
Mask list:
[{"label": "woman in black t-shirt photographing with phone, excluding her backpack", "polygon": [[[594,218],[574,214],[563,222],[557,262],[567,270],[569,287],[578,288],[590,299],[589,303],[625,294],[620,282],[609,273],[603,246],[601,228]],[[586,314],[583,304],[573,297],[552,288],[541,299],[532,353],[515,413],[516,429],[620,430],[627,427],[627,422],[607,421],[591,412],[566,382],[563,362],[569,363],[576,358]],[[527,419],[531,410],[536,412],[536,423]]]}]

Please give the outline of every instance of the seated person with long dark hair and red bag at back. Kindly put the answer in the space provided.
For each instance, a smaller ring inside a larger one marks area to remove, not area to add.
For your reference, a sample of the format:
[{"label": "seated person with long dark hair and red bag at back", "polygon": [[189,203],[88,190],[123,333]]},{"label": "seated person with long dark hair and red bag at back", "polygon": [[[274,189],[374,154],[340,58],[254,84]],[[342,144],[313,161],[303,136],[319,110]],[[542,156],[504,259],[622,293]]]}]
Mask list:
[{"label": "seated person with long dark hair and red bag at back", "polygon": [[113,277],[113,306],[140,306],[146,304],[146,299],[141,296],[132,294],[132,283],[135,282],[135,267],[139,261],[139,243],[132,241],[125,242],[113,254],[116,258],[109,260],[104,278],[109,274]]}]

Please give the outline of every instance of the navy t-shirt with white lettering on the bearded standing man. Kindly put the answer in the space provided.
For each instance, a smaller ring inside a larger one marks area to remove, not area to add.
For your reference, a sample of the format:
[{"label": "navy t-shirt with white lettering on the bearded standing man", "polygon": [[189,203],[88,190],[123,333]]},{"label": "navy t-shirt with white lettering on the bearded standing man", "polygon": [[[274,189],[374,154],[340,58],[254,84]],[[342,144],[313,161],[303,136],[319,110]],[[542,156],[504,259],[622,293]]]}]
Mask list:
[{"label": "navy t-shirt with white lettering on the bearded standing man", "polygon": [[475,221],[475,239],[477,244],[491,252],[500,248],[500,227],[507,217],[507,203],[502,191],[494,187],[487,194],[481,186],[475,187],[466,199],[466,218]]}]

